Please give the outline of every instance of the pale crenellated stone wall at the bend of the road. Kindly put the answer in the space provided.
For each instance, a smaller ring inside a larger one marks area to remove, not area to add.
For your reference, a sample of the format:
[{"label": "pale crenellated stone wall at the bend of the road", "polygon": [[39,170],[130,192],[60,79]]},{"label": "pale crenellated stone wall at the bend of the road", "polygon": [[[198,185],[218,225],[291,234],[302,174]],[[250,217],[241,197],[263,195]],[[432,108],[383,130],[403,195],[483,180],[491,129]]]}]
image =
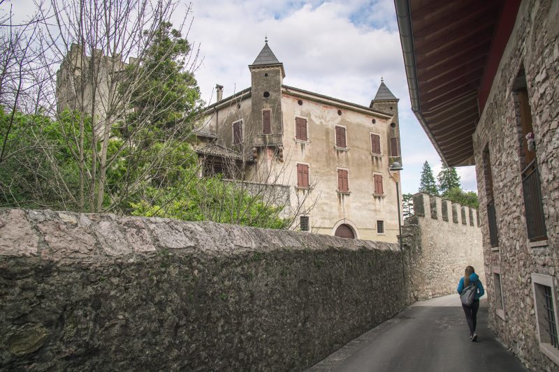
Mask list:
[{"label": "pale crenellated stone wall at the bend of the road", "polygon": [[477,209],[416,193],[414,213],[402,228],[404,245],[415,252],[411,256],[414,298],[456,293],[467,265],[486,283]]}]

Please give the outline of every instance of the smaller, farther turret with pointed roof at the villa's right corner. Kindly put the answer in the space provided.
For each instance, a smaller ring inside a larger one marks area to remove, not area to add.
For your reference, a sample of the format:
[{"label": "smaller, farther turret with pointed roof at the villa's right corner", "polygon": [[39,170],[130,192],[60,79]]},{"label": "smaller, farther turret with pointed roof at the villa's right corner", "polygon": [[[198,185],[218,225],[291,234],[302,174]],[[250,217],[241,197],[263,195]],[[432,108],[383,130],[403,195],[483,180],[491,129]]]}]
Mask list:
[{"label": "smaller, farther turret with pointed roof at the villa's right corner", "polygon": [[390,91],[389,87],[384,84],[384,79],[381,77],[379,89],[375,98],[372,99],[370,108],[376,111],[384,112],[386,114],[392,115],[392,120],[389,128],[386,128],[387,140],[386,149],[389,149],[389,165],[398,161],[402,164],[402,153],[400,148],[400,122],[398,121],[398,101],[400,98],[396,98],[394,94]]}]

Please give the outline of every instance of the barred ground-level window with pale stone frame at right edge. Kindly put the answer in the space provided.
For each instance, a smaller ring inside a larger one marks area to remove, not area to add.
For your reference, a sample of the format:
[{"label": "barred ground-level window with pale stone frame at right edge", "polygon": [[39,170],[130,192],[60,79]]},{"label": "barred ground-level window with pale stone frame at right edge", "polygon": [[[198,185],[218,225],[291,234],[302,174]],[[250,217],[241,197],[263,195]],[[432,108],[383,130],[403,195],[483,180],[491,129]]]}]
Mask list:
[{"label": "barred ground-level window with pale stone frame at right edge", "polygon": [[557,300],[553,276],[532,273],[539,350],[559,364]]}]

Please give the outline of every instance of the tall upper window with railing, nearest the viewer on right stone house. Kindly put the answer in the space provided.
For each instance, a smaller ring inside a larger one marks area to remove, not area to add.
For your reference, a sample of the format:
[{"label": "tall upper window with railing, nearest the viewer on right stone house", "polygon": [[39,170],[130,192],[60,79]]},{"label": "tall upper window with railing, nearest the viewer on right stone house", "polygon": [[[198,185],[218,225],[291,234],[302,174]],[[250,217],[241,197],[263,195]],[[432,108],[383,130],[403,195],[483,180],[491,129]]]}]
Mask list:
[{"label": "tall upper window with railing, nearest the viewer on right stone house", "polygon": [[[526,214],[526,228],[530,241],[545,241],[547,239],[546,221],[542,203],[542,186],[539,181],[534,129],[532,128],[532,110],[526,84],[524,69],[522,68],[514,80],[515,107],[518,133],[521,149],[522,191]],[[531,137],[531,138],[530,138]]]}]

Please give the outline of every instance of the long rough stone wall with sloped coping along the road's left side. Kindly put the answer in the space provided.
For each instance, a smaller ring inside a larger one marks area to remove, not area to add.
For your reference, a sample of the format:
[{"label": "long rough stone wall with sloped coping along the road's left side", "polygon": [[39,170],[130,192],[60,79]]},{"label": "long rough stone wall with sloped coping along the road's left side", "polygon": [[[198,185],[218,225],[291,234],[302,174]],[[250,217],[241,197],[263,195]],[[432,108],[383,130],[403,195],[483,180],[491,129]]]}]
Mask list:
[{"label": "long rough stone wall with sloped coping along the road's left side", "polygon": [[300,370],[406,293],[396,244],[0,210],[0,369]]}]

